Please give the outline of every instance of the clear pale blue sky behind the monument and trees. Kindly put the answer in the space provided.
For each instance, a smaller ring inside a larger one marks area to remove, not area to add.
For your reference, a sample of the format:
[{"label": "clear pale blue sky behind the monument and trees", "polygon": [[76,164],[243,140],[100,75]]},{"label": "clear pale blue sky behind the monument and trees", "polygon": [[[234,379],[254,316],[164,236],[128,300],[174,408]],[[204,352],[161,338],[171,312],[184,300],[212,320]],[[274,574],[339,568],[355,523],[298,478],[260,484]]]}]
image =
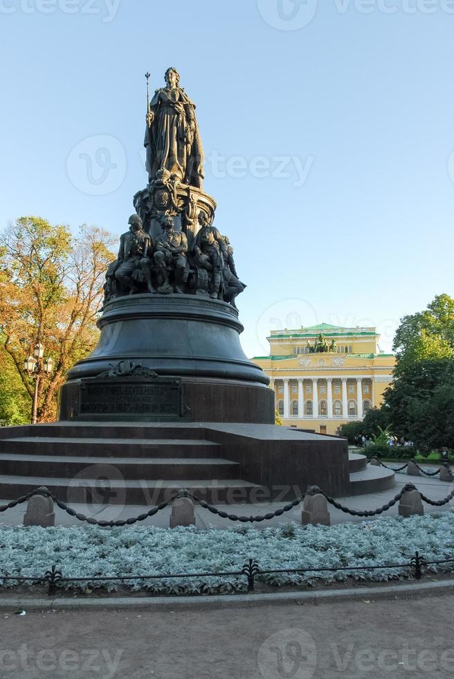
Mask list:
[{"label": "clear pale blue sky behind the monument and trees", "polygon": [[0,0],[0,226],[124,231],[143,74],[154,90],[172,65],[248,283],[246,353],[322,321],[376,325],[388,350],[401,316],[453,292],[453,34],[449,0]]}]

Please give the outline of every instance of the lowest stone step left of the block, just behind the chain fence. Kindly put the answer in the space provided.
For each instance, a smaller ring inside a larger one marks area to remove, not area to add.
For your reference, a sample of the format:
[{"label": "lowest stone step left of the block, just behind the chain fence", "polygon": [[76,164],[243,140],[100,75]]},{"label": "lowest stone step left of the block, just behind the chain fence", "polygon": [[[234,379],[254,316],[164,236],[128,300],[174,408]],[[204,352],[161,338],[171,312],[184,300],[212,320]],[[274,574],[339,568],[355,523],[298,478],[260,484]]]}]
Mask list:
[{"label": "lowest stone step left of the block, just behind the chain fence", "polygon": [[[0,497],[3,500],[16,500],[39,486],[46,486],[53,495],[66,504],[85,504],[87,513],[93,505],[136,504],[147,511],[152,506],[166,502],[181,488],[187,488],[201,500],[210,504],[236,504],[256,502],[266,491],[262,486],[242,481],[242,479],[181,479],[174,481],[137,481],[125,479],[112,481],[104,486],[100,479],[66,479],[46,477],[0,477]],[[25,509],[25,505],[24,505]]]}]

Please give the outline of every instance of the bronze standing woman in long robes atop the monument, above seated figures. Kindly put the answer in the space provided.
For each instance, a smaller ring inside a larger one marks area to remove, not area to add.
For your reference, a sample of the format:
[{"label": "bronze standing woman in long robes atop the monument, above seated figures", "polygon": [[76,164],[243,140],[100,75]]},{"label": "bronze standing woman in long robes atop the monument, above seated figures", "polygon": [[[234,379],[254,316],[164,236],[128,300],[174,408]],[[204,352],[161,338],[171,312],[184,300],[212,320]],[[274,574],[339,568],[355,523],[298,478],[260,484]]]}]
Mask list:
[{"label": "bronze standing woman in long robes atop the monument, above seated figures", "polygon": [[167,87],[156,89],[147,111],[144,145],[149,182],[158,170],[167,170],[170,179],[201,188],[203,148],[195,105],[180,87],[176,69],[165,71],[165,82]]}]

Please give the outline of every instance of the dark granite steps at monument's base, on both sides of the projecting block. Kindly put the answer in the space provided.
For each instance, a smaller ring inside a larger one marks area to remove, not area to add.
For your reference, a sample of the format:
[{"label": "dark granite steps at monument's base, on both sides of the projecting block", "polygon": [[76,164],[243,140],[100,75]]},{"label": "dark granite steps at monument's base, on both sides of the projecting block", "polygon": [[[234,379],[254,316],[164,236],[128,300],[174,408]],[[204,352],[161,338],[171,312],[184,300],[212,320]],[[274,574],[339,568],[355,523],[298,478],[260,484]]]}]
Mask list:
[{"label": "dark granite steps at monument's base, on both sides of the projecting block", "polygon": [[[152,506],[178,488],[212,504],[266,500],[266,488],[243,480],[242,464],[228,459],[210,436],[215,432],[203,423],[57,422],[0,429],[0,499],[46,486],[69,504]],[[394,484],[394,473],[367,466],[363,455],[349,455],[349,474],[348,495]]]}]

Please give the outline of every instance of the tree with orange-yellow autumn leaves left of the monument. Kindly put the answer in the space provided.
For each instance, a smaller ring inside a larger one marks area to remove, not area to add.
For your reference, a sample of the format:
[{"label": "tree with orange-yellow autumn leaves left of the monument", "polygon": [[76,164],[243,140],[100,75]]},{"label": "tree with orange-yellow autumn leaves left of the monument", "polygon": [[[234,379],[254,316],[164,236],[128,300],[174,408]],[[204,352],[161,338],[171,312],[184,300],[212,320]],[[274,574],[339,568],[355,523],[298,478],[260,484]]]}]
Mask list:
[{"label": "tree with orange-yellow autumn leaves left of the monument", "polygon": [[53,373],[39,381],[38,421],[55,418],[66,371],[96,345],[111,245],[98,227],[84,224],[74,236],[39,217],[19,218],[0,235],[0,365],[14,367],[31,399],[24,358],[41,342],[55,361]]}]

